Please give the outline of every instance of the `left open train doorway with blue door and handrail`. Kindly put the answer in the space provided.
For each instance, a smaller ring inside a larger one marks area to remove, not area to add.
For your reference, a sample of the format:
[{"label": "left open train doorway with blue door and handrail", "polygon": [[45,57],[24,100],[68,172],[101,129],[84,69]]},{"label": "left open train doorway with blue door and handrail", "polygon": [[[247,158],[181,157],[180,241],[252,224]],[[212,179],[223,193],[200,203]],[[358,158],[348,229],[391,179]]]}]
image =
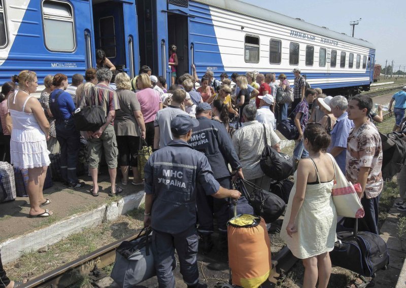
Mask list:
[{"label": "left open train doorway with blue door and handrail", "polygon": [[116,69],[136,74],[138,55],[135,0],[92,0],[94,46],[106,52]]}]

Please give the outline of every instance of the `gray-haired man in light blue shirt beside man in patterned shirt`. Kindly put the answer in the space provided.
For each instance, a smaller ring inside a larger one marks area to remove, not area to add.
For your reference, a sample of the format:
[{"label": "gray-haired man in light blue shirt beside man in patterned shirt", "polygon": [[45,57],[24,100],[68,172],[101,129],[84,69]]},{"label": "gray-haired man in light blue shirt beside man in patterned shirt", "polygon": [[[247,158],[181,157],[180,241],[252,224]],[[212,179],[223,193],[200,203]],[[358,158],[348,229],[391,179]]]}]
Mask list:
[{"label": "gray-haired man in light blue shirt beside man in patterned shirt", "polygon": [[352,120],[348,119],[348,101],[344,96],[335,96],[330,100],[331,113],[337,118],[334,128],[331,131],[331,143],[327,152],[334,158],[344,175],[346,174],[346,150],[347,138],[351,128],[354,126]]}]

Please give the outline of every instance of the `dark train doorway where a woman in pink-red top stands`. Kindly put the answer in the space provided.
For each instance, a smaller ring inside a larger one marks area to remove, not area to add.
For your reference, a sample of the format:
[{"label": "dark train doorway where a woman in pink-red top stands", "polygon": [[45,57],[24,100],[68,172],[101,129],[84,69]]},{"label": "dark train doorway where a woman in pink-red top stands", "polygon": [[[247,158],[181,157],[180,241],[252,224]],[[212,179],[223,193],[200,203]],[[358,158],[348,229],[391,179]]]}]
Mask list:
[{"label": "dark train doorway where a woman in pink-red top stands", "polygon": [[[178,56],[177,76],[189,73],[189,39],[188,39],[188,16],[183,14],[168,13],[168,46],[175,45],[177,47],[176,54]],[[168,77],[166,79],[171,79]]]}]

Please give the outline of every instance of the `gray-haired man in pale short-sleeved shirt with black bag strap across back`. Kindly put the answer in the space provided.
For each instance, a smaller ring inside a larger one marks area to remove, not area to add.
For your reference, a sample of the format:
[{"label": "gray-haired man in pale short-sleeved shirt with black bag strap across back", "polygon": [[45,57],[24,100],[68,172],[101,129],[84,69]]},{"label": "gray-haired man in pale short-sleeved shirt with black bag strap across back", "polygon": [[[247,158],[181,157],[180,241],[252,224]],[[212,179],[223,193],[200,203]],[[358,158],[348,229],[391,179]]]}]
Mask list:
[{"label": "gray-haired man in pale short-sleeved shirt with black bag strap across back", "polygon": [[[246,105],[244,107],[244,124],[242,128],[234,133],[232,143],[243,165],[244,178],[268,191],[270,178],[262,172],[259,165],[262,150],[265,147],[264,126],[268,145],[280,151],[279,142],[281,139],[269,125],[256,121],[256,115],[257,109],[254,105]],[[249,192],[252,192],[251,187],[246,188]]]}]

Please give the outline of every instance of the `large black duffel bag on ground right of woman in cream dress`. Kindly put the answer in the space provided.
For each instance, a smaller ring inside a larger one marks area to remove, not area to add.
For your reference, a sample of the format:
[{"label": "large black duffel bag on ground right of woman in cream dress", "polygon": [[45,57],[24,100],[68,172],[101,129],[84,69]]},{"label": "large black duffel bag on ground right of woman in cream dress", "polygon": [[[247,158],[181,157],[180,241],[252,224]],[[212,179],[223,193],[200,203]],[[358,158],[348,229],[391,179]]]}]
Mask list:
[{"label": "large black duffel bag on ground right of woman in cream dress", "polygon": [[330,251],[332,265],[365,277],[374,277],[378,270],[387,268],[389,254],[384,239],[374,233],[358,232],[358,219],[353,231],[338,232],[337,239]]}]

